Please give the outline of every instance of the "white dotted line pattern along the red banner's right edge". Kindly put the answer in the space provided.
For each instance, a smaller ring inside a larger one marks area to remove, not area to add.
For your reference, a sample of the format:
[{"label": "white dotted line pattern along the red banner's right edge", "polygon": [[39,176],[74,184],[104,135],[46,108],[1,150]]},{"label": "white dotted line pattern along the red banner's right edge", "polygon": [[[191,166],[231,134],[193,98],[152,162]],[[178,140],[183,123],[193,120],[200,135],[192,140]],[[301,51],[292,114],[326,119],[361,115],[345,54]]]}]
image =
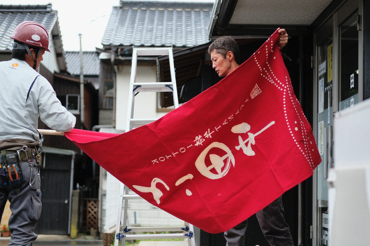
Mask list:
[{"label": "white dotted line pattern along the red banner's right edge", "polygon": [[[289,82],[288,82],[288,77],[285,77],[285,81],[280,81],[280,79],[276,75],[274,75],[274,72],[273,72],[271,66],[269,65],[268,58],[269,58],[269,56],[272,56],[273,52],[274,52],[273,51],[273,46],[274,46],[273,40],[270,40],[270,38],[269,38],[269,39],[267,39],[267,41],[265,43],[266,43],[266,46],[265,46],[265,48],[266,48],[266,60],[265,60],[266,65],[262,66],[262,64],[260,64],[258,62],[255,53],[253,54],[253,57],[256,61],[257,66],[259,67],[259,70],[261,72],[261,76],[263,78],[265,78],[266,80],[268,80],[271,84],[274,84],[279,91],[283,92],[284,115],[285,115],[285,119],[286,119],[287,128],[289,129],[289,132],[292,136],[293,141],[296,143],[297,148],[299,148],[299,150],[305,156],[305,158],[309,162],[311,168],[314,169],[314,163],[313,163],[313,160],[312,160],[312,152],[314,151],[314,149],[311,150],[311,148],[309,148],[309,143],[312,145],[312,141],[310,141],[309,135],[306,132],[305,125],[304,125],[304,123],[301,119],[301,115],[304,115],[303,111],[300,107],[297,107],[297,105],[299,105],[299,102],[298,102],[297,98],[295,96],[293,96],[294,92],[293,92],[293,87],[291,86],[290,79],[289,79]],[[258,53],[260,53],[260,52],[261,51],[259,51]],[[276,56],[273,56],[273,59],[276,59]],[[286,100],[287,99],[286,95],[288,96],[288,100]],[[297,117],[299,122],[294,121],[294,124],[293,124],[293,122],[290,121],[291,117],[289,115],[287,115],[287,112],[286,112],[286,104],[288,104],[288,103],[291,103],[293,105],[295,111],[296,111],[296,115],[294,115],[294,117],[292,117],[292,118]],[[300,110],[300,113],[298,112],[298,108]],[[299,127],[300,127],[301,131],[299,131]],[[292,130],[292,128],[293,128],[293,130]],[[300,146],[299,142],[297,142],[297,138],[295,136],[297,136],[299,134],[302,134],[302,139],[303,139],[303,145],[304,146]]]}]

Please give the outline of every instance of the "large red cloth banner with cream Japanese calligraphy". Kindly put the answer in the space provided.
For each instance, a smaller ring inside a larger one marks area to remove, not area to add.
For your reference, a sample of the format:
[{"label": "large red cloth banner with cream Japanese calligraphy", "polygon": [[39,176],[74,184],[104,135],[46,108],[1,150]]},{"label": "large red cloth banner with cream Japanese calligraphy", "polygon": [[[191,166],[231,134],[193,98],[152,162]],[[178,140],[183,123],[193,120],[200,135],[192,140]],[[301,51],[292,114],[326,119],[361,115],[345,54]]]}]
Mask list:
[{"label": "large red cloth banner with cream Japanese calligraphy", "polygon": [[[274,34],[215,86],[121,135],[65,133],[126,186],[207,232],[224,232],[321,162]],[[118,196],[118,194],[117,194]]]}]

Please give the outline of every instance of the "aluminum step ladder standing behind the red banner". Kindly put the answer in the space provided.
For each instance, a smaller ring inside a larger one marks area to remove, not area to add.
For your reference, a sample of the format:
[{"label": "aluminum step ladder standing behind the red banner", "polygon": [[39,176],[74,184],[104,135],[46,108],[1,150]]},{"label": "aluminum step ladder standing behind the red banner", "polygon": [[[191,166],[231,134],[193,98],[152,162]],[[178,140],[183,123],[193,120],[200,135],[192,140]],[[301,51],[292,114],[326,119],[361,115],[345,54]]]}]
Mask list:
[{"label": "aluminum step ladder standing behind the red banner", "polygon": [[[136,73],[137,73],[137,60],[138,56],[162,56],[168,55],[169,66],[171,71],[171,82],[154,82],[154,83],[136,83]],[[130,77],[130,87],[128,96],[128,109],[127,109],[127,122],[126,122],[126,132],[140,127],[142,125],[151,123],[157,119],[152,118],[134,118],[134,102],[135,95],[139,92],[165,92],[168,91],[173,94],[174,106],[178,108],[178,97],[175,79],[175,66],[174,66],[174,56],[172,54],[172,47],[164,48],[133,48],[132,50],[132,65],[131,65],[131,77]],[[195,246],[194,240],[194,229],[191,224],[186,223],[185,226],[178,227],[127,227],[127,206],[128,200],[130,199],[142,199],[137,194],[132,194],[127,186],[120,184],[120,197],[118,204],[118,216],[117,225],[115,231],[115,241],[114,246],[118,246],[119,242],[125,245],[126,240],[131,239],[177,239],[177,238],[188,238],[189,246]],[[122,222],[122,204],[124,201],[123,209],[123,222]],[[122,227],[122,230],[121,230]],[[186,233],[161,233],[161,234],[126,234],[128,232],[179,232],[185,231]]]}]

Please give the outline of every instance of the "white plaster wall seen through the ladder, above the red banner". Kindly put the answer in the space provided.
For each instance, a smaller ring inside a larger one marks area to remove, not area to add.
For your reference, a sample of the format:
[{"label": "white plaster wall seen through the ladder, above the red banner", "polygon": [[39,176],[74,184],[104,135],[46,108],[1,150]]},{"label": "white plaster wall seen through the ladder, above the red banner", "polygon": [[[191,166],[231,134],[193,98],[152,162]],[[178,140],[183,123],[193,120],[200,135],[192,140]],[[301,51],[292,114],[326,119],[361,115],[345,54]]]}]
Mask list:
[{"label": "white plaster wall seen through the ladder, above the red banner", "polygon": [[[121,66],[117,74],[116,129],[122,131],[126,129],[130,69],[131,66]],[[138,66],[136,82],[157,82],[157,67]],[[140,92],[134,104],[134,118],[161,118],[166,114],[157,112],[157,92]]]}]

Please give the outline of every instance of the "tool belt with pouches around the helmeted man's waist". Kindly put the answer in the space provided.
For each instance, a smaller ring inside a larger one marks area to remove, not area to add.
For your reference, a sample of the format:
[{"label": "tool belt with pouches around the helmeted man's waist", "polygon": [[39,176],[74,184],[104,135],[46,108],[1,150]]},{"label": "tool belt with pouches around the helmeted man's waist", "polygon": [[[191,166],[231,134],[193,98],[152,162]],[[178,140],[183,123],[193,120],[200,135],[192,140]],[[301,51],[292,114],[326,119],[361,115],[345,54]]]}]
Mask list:
[{"label": "tool belt with pouches around the helmeted man's waist", "polygon": [[[28,162],[30,166],[40,165],[41,155],[36,147],[23,146],[19,150],[1,150],[0,152],[0,187],[11,185],[18,187],[23,179],[22,169],[19,163]],[[34,164],[33,160],[36,160]]]}]

